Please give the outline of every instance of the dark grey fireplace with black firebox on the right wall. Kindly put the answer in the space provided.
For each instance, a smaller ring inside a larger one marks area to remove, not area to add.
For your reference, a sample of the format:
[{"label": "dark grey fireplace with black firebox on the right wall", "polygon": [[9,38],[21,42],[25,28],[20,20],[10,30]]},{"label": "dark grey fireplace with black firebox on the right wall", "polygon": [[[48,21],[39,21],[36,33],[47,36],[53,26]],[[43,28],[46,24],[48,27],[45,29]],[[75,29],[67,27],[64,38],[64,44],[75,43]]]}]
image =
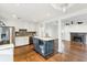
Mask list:
[{"label": "dark grey fireplace with black firebox on the right wall", "polygon": [[85,33],[70,33],[70,41],[85,44],[86,34]]}]

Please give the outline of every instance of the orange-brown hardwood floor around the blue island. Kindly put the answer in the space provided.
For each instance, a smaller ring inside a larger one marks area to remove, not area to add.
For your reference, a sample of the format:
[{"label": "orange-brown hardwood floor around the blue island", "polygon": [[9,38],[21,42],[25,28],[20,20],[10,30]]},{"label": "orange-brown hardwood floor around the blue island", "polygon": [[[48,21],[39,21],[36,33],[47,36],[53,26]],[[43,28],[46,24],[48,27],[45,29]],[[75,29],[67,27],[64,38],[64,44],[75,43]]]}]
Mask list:
[{"label": "orange-brown hardwood floor around the blue island", "polygon": [[65,52],[55,53],[48,58],[34,51],[33,45],[14,48],[14,62],[87,62],[87,45],[64,42]]}]

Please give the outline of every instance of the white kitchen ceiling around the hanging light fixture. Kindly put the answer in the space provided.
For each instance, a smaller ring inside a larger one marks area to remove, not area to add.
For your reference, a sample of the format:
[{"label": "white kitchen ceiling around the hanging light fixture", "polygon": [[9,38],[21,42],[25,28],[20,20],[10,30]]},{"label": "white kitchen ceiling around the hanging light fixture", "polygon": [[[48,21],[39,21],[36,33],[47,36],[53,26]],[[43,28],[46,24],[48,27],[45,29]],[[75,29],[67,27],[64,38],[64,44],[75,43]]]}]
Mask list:
[{"label": "white kitchen ceiling around the hanging light fixture", "polygon": [[0,3],[0,19],[42,22],[87,9],[86,3],[72,4],[64,13],[54,9],[51,3]]}]

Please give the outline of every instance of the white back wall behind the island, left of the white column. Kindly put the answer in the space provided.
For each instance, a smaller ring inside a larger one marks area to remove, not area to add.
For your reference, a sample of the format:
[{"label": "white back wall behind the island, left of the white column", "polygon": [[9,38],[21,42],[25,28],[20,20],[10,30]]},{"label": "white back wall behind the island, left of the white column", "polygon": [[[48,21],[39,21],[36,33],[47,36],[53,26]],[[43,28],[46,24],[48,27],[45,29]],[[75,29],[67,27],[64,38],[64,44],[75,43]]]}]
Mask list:
[{"label": "white back wall behind the island, left of the white column", "polygon": [[39,33],[41,36],[51,36],[53,39],[57,39],[58,36],[58,25],[54,22],[42,23],[40,24]]}]

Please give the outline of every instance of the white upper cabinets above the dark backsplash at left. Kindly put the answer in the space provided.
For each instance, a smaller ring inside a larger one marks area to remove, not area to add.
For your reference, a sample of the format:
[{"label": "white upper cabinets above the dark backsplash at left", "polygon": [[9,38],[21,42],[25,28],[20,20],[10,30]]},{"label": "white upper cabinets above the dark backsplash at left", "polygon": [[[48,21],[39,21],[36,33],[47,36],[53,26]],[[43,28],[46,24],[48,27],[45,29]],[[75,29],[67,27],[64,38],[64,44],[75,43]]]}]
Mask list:
[{"label": "white upper cabinets above the dark backsplash at left", "polygon": [[19,29],[28,29],[28,31],[36,31],[36,23],[28,21],[7,21],[7,25],[14,26],[15,31]]}]

